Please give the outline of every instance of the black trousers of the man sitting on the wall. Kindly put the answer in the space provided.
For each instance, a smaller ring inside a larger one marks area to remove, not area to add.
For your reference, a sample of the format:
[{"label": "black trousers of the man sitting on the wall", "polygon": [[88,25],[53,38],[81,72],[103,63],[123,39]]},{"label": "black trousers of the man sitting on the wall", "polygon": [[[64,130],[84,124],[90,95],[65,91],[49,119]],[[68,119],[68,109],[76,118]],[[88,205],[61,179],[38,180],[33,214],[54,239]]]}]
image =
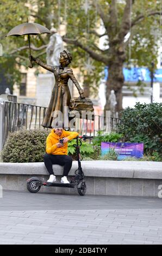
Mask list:
[{"label": "black trousers of the man sitting on the wall", "polygon": [[52,164],[59,164],[60,166],[64,166],[63,176],[67,176],[71,166],[72,166],[72,157],[68,155],[50,155],[45,154],[43,156],[45,166],[49,172],[49,174],[54,174],[52,169]]}]

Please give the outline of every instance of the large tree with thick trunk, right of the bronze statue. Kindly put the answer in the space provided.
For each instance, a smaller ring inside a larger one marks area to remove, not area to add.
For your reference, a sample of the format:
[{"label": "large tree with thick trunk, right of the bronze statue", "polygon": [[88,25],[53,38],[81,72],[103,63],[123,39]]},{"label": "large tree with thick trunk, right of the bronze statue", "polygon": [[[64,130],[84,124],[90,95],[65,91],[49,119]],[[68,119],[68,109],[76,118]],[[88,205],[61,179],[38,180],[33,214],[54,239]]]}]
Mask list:
[{"label": "large tree with thick trunk, right of the bronze statue", "polygon": [[[151,62],[157,63],[157,39],[160,31],[160,1],[89,1],[93,8],[97,8],[97,13],[103,22],[105,32],[98,34],[96,29],[90,31],[101,38],[107,35],[105,44],[107,48],[95,50],[91,42],[84,42],[85,36],[79,39],[65,36],[64,41],[73,44],[88,52],[91,58],[108,66],[108,80],[106,83],[106,104],[105,110],[109,109],[110,91],[114,89],[117,105],[116,111],[122,109],[122,86],[124,83],[123,65],[128,62],[128,46],[132,47],[132,59],[134,64],[148,66]],[[159,30],[158,30],[159,29]],[[129,35],[129,39],[126,36]],[[130,56],[129,56],[130,57]]]}]

